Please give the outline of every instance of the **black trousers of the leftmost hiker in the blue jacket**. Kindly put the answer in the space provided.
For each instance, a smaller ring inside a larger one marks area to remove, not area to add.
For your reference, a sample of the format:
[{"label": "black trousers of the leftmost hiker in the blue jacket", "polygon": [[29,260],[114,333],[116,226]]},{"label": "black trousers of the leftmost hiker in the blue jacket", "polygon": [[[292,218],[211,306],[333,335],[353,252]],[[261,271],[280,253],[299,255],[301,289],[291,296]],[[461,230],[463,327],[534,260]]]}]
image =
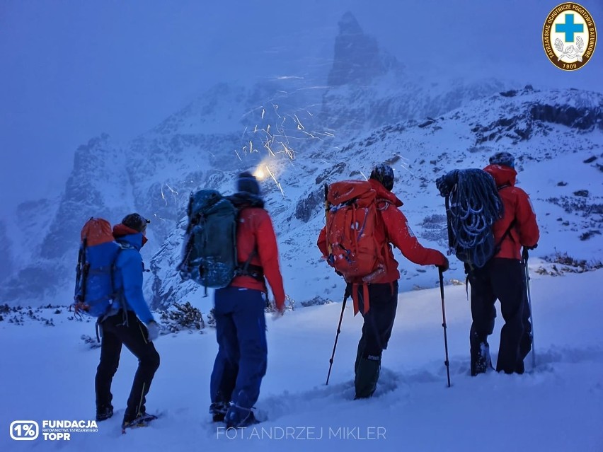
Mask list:
[{"label": "black trousers of the leftmost hiker in the blue jacket", "polygon": [[149,332],[132,311],[120,311],[103,320],[101,342],[101,362],[96,368],[96,408],[111,405],[111,382],[120,364],[122,344],[138,358],[138,369],[127,400],[125,421],[130,421],[145,412],[145,397],[151,387],[155,371],[159,367],[159,353],[153,342],[148,340]]}]

